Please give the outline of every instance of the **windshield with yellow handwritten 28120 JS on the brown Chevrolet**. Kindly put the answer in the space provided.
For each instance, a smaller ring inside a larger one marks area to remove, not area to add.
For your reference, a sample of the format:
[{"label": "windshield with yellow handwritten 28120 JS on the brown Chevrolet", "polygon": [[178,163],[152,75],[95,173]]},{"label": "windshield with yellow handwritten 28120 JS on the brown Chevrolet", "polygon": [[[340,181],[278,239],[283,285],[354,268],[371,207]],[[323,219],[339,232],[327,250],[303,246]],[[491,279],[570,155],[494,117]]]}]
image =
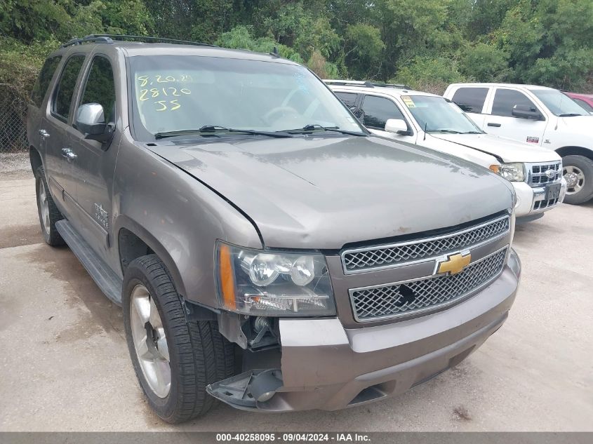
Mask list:
[{"label": "windshield with yellow handwritten 28120 JS on the brown Chevrolet", "polygon": [[342,102],[300,65],[159,55],[132,57],[130,66],[135,135],[142,140],[204,127],[364,133]]}]

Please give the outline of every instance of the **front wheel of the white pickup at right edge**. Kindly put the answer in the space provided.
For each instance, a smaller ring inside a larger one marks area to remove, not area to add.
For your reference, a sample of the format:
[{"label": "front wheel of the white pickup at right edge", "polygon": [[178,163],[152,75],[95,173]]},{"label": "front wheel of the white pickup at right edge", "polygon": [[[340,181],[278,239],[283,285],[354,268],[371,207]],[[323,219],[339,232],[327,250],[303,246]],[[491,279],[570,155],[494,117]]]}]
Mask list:
[{"label": "front wheel of the white pickup at right edge", "polygon": [[562,158],[562,174],[566,180],[565,203],[579,205],[593,197],[593,160],[585,156]]}]

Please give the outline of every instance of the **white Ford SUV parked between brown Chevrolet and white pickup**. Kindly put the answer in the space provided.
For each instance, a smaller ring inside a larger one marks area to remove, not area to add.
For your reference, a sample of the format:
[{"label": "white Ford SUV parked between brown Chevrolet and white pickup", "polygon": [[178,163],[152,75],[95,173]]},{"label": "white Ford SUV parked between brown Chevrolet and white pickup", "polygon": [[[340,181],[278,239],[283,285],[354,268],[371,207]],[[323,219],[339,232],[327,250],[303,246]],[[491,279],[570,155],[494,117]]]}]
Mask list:
[{"label": "white Ford SUV parked between brown Chevrolet and white pickup", "polygon": [[490,168],[517,191],[517,217],[541,217],[564,199],[558,154],[485,134],[451,100],[404,85],[326,80],[372,133]]}]

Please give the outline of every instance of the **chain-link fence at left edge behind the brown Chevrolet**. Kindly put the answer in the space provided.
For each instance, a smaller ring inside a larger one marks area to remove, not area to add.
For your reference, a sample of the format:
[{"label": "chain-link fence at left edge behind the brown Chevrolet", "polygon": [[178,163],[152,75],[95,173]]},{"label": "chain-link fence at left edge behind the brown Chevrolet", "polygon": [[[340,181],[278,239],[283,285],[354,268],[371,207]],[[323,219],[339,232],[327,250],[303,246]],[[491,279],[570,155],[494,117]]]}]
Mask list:
[{"label": "chain-link fence at left edge behind the brown Chevrolet", "polygon": [[0,85],[0,153],[27,151],[27,100],[11,86]]}]

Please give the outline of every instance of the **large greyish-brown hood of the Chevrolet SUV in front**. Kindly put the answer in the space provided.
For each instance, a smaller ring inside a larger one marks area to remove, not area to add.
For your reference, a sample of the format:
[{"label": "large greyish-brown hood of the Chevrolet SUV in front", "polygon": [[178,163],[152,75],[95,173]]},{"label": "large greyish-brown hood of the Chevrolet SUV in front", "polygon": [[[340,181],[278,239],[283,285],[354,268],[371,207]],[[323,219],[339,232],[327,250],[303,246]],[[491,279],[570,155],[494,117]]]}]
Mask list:
[{"label": "large greyish-brown hood of the Chevrolet SUV in front", "polygon": [[512,186],[485,168],[380,137],[252,137],[147,149],[240,208],[272,248],[340,249],[512,206]]}]

